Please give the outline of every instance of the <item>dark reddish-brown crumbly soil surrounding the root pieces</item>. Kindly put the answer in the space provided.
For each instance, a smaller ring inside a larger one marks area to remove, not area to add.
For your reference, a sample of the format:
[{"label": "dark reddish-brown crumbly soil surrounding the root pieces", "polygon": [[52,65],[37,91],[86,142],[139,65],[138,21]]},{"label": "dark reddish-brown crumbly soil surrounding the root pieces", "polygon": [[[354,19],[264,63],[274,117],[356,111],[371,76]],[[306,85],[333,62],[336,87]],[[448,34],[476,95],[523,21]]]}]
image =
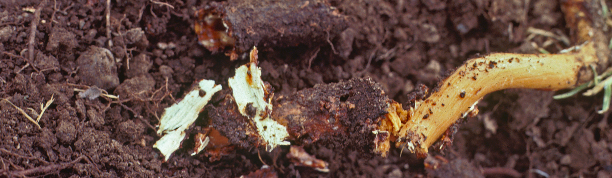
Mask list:
[{"label": "dark reddish-brown crumbly soil surrounding the root pieces", "polygon": [[[215,159],[179,149],[165,161],[152,148],[163,109],[198,79],[228,88],[247,55],[231,61],[198,44],[194,14],[209,1],[108,2],[110,9],[105,0],[0,2],[1,177],[240,177],[264,165],[279,177],[612,175],[612,119],[597,113],[603,94],[553,100],[555,92],[537,90],[489,94],[479,102],[480,114],[460,126],[453,146],[425,160],[401,149],[380,157],[312,144],[305,151],[329,163],[329,173],[294,165],[286,146],[236,149]],[[568,48],[571,42],[562,39],[571,32],[559,3],[331,0],[346,17],[343,30],[317,44],[258,46],[262,79],[275,94],[289,95],[371,77],[406,105],[412,90],[435,87],[470,57]],[[94,85],[119,99],[83,92]],[[40,119],[40,127],[25,115]],[[204,121],[196,122],[200,126]]]}]

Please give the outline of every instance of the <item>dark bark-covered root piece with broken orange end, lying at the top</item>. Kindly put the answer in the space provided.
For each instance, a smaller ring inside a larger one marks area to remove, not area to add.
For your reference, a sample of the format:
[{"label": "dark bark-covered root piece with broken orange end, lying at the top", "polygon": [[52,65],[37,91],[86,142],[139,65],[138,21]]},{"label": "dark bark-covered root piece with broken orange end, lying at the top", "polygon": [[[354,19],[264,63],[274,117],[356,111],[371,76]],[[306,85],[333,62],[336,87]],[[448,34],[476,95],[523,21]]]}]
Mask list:
[{"label": "dark bark-covered root piece with broken orange end, lying at the top", "polygon": [[[212,2],[196,16],[201,44],[213,52],[233,46],[237,54],[253,46],[320,46],[346,28],[345,16],[327,1]],[[225,31],[227,34],[218,34]]]}]

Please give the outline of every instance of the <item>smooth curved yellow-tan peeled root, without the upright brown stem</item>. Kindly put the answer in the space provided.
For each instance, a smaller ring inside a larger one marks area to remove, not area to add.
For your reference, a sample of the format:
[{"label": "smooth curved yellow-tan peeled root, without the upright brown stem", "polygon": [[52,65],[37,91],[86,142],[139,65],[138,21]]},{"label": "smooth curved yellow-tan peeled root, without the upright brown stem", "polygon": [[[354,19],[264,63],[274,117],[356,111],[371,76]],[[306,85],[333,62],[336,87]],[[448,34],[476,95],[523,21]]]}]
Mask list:
[{"label": "smooth curved yellow-tan peeled root, without the upright brown stem", "polygon": [[[494,53],[471,59],[409,112],[386,116],[381,128],[387,129],[380,130],[397,135],[396,146],[405,146],[423,157],[427,149],[457,119],[468,115],[486,94],[507,88],[573,88],[592,79],[590,65],[597,62],[592,43],[564,54]],[[408,119],[402,122],[398,118]],[[399,131],[397,126],[401,126]]]}]

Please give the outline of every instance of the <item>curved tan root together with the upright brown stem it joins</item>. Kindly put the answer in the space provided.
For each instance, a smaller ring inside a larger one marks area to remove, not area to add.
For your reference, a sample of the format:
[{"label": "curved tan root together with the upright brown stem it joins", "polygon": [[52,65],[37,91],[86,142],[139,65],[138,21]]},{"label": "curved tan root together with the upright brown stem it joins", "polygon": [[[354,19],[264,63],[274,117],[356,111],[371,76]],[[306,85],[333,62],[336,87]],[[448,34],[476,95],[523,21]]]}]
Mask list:
[{"label": "curved tan root together with the upright brown stem it joins", "polygon": [[601,20],[590,13],[597,12],[592,9],[598,7],[597,3],[578,0],[563,4],[567,24],[575,33],[574,41],[580,45],[561,54],[495,53],[466,61],[439,82],[427,99],[411,105],[408,121],[401,123],[398,132],[390,132],[397,134],[396,146],[405,146],[419,157],[425,157],[438,140],[442,148],[452,141],[450,137],[456,129],[452,126],[458,123],[457,119],[477,113],[476,102],[493,91],[561,90],[593,79],[591,68],[606,66],[610,54],[603,33],[594,28]]}]

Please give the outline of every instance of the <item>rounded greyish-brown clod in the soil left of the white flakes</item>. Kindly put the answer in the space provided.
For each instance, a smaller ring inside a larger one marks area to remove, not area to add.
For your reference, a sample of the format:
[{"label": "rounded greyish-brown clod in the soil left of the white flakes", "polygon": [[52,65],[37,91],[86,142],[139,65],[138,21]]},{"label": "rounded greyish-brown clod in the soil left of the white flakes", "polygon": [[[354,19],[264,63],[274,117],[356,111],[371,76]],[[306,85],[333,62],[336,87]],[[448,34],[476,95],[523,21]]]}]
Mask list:
[{"label": "rounded greyish-brown clod in the soil left of the white flakes", "polygon": [[76,59],[78,75],[85,85],[104,90],[117,87],[119,77],[113,54],[106,48],[91,46]]}]

